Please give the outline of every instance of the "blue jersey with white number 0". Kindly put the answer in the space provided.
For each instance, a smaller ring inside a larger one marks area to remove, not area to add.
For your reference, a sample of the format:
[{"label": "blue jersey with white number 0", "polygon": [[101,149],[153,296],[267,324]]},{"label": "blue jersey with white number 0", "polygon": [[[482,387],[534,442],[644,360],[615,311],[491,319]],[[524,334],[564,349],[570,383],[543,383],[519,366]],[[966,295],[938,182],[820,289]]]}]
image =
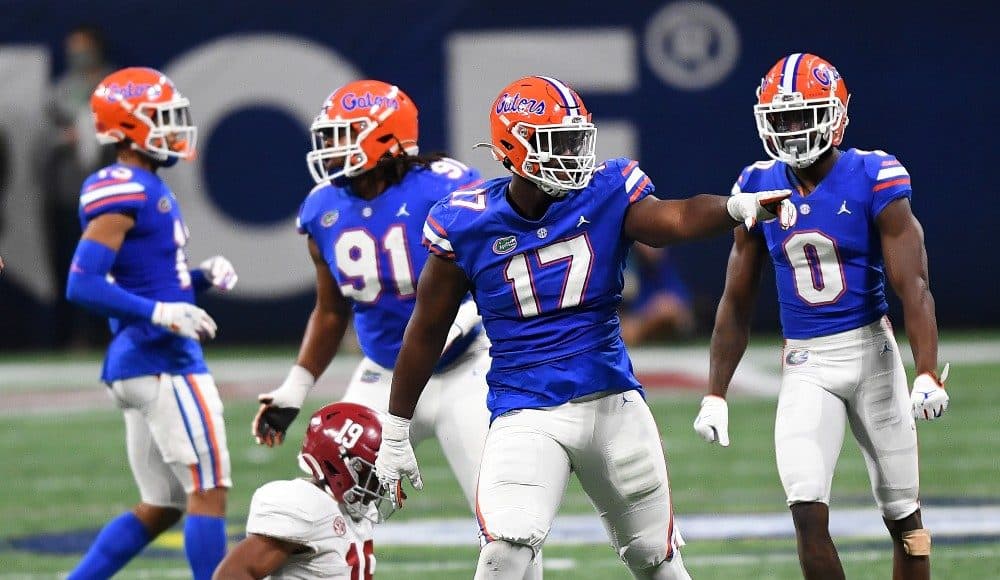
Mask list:
[{"label": "blue jersey with white number 0", "polygon": [[808,196],[791,169],[775,161],[750,165],[733,186],[734,193],[769,189],[791,189],[798,208],[787,231],[777,220],[753,228],[774,263],[785,337],[827,336],[881,318],[888,306],[875,219],[910,197],[906,168],[885,152],[851,149]]}]

